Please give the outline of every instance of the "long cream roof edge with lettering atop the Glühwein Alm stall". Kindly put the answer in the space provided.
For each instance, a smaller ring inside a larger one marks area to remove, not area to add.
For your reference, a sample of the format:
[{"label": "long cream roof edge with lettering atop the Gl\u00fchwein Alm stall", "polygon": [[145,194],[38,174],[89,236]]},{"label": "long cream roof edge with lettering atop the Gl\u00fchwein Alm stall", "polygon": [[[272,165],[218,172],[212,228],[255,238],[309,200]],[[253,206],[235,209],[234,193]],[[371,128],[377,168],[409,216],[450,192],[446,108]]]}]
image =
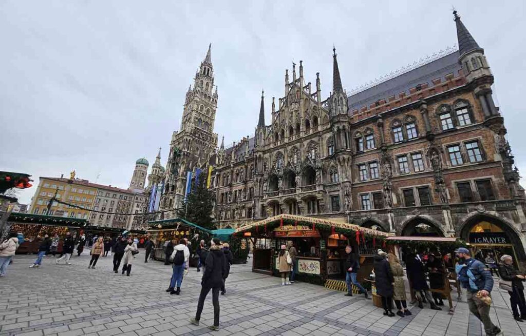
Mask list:
[{"label": "long cream roof edge with lettering atop the Gl\u00fchwein Alm stall", "polygon": [[373,230],[373,229],[370,229],[370,228],[367,228],[367,227],[361,227],[359,225],[356,225],[356,224],[349,224],[349,223],[340,223],[340,222],[335,222],[333,220],[328,220],[328,219],[321,219],[321,218],[315,218],[315,217],[306,217],[306,216],[298,216],[298,215],[289,215],[289,214],[281,214],[281,215],[277,215],[277,216],[274,216],[274,217],[269,217],[267,219],[264,219],[264,220],[260,220],[259,222],[255,222],[255,223],[251,223],[251,224],[247,224],[247,225],[244,225],[244,226],[240,226],[236,229],[236,233],[243,233],[243,232],[246,232],[246,231],[250,231],[256,227],[264,227],[265,225],[268,225],[270,224],[271,226],[274,226],[276,224],[279,224],[281,222],[281,219],[283,219],[283,221],[288,224],[288,225],[291,225],[291,224],[298,224],[298,225],[312,225],[312,224],[315,224],[315,225],[319,225],[319,227],[323,227],[323,226],[327,226],[329,228],[332,228],[334,227],[335,229],[340,229],[340,230],[343,230],[343,231],[349,231],[349,230],[352,230],[352,231],[361,231],[365,234],[369,234],[371,236],[382,236],[382,237],[388,237],[392,234],[390,233],[387,233],[387,232],[383,232],[383,231],[379,231],[379,230]]}]

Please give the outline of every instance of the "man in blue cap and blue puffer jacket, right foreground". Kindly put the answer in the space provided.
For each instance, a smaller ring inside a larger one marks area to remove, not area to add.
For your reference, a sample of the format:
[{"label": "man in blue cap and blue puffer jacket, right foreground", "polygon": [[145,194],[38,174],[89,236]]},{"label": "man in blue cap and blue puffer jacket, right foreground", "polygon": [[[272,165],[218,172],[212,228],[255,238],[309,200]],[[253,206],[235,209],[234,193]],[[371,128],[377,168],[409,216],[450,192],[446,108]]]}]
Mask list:
[{"label": "man in blue cap and blue puffer jacket, right foreground", "polygon": [[482,299],[482,297],[491,297],[493,277],[490,271],[481,261],[471,258],[467,248],[460,247],[455,253],[460,259],[455,265],[455,270],[462,287],[466,288],[469,310],[482,322],[486,335],[498,335],[501,330],[491,321],[490,306]]}]

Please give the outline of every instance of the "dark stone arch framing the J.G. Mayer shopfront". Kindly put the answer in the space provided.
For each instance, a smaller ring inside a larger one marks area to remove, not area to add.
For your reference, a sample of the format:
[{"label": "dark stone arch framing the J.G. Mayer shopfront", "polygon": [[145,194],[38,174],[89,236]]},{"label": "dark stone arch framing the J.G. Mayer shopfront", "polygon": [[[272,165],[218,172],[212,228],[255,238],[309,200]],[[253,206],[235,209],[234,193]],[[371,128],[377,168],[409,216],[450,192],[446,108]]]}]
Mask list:
[{"label": "dark stone arch framing the J.G. Mayer shopfront", "polygon": [[495,226],[498,226],[509,239],[508,244],[512,244],[515,247],[515,253],[517,253],[517,257],[521,260],[526,259],[524,245],[522,244],[522,240],[520,238],[517,228],[515,228],[515,226],[512,223],[510,223],[507,219],[505,219],[502,216],[498,216],[488,212],[481,213],[478,211],[468,214],[467,216],[461,218],[459,222],[461,223],[458,227],[458,233],[460,238],[471,243],[470,231],[473,228],[473,226],[479,224],[480,222],[489,222]]}]

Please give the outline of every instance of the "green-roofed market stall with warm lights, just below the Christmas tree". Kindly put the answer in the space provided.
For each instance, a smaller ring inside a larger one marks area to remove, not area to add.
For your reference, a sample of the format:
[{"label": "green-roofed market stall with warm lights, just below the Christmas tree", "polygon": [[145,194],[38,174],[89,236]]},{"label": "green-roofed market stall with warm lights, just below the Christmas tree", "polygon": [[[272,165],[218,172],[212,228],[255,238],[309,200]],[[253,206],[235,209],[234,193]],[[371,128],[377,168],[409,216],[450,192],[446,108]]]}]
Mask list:
[{"label": "green-roofed market stall with warm lights, just below the Christmas tree", "polygon": [[[150,228],[146,233],[154,242],[154,253],[151,258],[155,260],[165,260],[165,250],[170,240],[187,238],[190,242],[190,254],[194,255],[199,241],[205,239],[208,242],[213,236],[209,229],[183,218],[153,220],[148,222],[148,225]],[[195,259],[190,258],[190,266],[195,266],[194,264],[197,265]]]}]

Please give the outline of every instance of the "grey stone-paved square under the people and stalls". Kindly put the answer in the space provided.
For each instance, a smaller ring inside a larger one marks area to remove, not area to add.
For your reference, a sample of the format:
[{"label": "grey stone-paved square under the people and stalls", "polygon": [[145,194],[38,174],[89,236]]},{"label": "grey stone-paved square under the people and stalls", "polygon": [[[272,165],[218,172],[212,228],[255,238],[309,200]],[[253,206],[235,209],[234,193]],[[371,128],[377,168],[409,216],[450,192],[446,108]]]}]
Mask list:
[{"label": "grey stone-paved square under the people and stalls", "polygon": [[[281,286],[280,279],[234,265],[227,294],[220,297],[221,329],[210,332],[211,298],[201,325],[188,323],[197,306],[200,273],[191,268],[180,296],[168,295],[171,270],[159,261],[134,259],[131,276],[112,272],[112,257],[88,269],[87,253],[73,265],[55,265],[44,258],[29,269],[34,256],[16,256],[7,276],[0,278],[0,335],[482,335],[480,322],[465,302],[456,312],[409,307],[410,317],[385,317],[362,296],[308,283]],[[493,291],[491,318],[505,335],[524,335],[526,323],[511,317],[507,292]],[[425,307],[425,306],[424,306]]]}]

